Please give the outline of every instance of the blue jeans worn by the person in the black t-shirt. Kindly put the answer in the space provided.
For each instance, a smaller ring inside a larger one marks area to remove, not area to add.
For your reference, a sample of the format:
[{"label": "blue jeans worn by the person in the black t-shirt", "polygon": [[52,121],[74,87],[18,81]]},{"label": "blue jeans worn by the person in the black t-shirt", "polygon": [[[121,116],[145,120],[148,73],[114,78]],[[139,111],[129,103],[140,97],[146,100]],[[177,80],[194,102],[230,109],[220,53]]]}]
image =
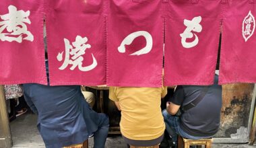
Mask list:
[{"label": "blue jeans worn by the person in the black t-shirt", "polygon": [[189,135],[181,129],[181,126],[180,126],[181,121],[180,121],[179,116],[172,116],[166,110],[162,111],[162,115],[164,116],[164,123],[166,125],[166,131],[172,137],[172,141],[177,141],[178,135],[181,135],[181,137],[184,137],[186,139],[207,139],[207,138],[212,137],[212,136],[210,136],[210,137],[195,137],[195,136]]}]

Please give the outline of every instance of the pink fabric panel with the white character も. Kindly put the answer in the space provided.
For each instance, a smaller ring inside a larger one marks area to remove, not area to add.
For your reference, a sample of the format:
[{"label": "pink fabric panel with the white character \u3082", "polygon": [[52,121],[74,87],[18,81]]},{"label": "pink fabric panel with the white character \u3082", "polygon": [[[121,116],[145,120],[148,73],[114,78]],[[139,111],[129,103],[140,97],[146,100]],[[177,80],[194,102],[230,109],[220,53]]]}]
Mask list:
[{"label": "pink fabric panel with the white character \u3082", "polygon": [[172,0],[165,4],[164,84],[214,83],[220,36],[220,0]]}]

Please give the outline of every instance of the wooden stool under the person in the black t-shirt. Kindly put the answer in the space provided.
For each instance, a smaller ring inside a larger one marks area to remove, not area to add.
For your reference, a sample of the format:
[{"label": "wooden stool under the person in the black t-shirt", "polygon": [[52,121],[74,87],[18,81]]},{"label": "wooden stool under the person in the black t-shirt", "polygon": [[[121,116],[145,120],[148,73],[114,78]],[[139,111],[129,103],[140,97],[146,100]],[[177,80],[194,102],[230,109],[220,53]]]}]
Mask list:
[{"label": "wooden stool under the person in the black t-shirt", "polygon": [[213,139],[199,139],[199,140],[192,140],[192,139],[185,139],[179,136],[178,139],[178,148],[189,148],[190,145],[199,145],[197,147],[201,148],[201,145],[205,145],[205,148],[212,147]]}]

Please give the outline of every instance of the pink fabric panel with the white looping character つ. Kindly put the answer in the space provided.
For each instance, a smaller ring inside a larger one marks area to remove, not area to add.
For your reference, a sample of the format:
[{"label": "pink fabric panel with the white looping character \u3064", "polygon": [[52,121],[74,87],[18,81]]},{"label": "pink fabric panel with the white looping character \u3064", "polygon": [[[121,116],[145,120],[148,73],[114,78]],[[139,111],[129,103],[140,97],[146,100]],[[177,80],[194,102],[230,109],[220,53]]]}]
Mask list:
[{"label": "pink fabric panel with the white looping character \u3064", "polygon": [[107,28],[107,85],[162,85],[160,0],[111,0]]}]

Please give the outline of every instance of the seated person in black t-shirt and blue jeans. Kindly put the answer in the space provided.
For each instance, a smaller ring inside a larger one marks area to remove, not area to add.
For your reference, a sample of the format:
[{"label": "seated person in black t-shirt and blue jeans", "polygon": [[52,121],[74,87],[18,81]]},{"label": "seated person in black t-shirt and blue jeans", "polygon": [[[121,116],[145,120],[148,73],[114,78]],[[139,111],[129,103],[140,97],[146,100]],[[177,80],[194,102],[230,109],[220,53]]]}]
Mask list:
[{"label": "seated person in black t-shirt and blue jeans", "polygon": [[178,135],[187,139],[213,137],[220,126],[221,107],[222,86],[218,85],[218,75],[214,85],[178,85],[162,112],[166,131],[175,142]]}]

